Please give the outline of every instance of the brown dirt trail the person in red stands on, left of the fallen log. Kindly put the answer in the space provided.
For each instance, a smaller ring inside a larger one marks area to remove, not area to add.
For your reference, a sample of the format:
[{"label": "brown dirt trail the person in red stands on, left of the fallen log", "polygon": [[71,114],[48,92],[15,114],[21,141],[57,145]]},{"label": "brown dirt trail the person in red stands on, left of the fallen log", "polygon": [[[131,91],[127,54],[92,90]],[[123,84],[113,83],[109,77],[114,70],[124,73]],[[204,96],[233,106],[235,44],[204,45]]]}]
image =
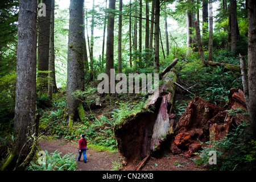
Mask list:
[{"label": "brown dirt trail the person in red stands on, left of the fallen log", "polygon": [[[61,152],[61,156],[66,153],[74,153],[78,157],[78,144],[73,142],[68,142],[64,139],[59,140],[41,140],[39,143],[42,150],[47,150],[48,154],[51,154],[57,150]],[[113,167],[113,163],[118,161],[117,152],[108,151],[98,151],[92,147],[88,147],[86,151],[87,163],[83,162],[83,157],[81,161],[77,162],[77,171],[110,171]]]}]

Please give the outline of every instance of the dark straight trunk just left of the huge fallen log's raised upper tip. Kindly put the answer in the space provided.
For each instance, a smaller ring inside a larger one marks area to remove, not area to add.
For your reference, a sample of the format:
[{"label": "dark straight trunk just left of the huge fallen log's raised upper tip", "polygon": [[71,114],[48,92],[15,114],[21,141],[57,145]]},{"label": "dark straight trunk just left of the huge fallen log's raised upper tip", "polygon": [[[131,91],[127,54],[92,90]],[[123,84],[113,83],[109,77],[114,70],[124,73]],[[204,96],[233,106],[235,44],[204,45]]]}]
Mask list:
[{"label": "dark straight trunk just left of the huge fallen log's raised upper tip", "polygon": [[154,72],[159,72],[159,19],[160,19],[160,2],[155,0],[155,42],[154,42]]}]

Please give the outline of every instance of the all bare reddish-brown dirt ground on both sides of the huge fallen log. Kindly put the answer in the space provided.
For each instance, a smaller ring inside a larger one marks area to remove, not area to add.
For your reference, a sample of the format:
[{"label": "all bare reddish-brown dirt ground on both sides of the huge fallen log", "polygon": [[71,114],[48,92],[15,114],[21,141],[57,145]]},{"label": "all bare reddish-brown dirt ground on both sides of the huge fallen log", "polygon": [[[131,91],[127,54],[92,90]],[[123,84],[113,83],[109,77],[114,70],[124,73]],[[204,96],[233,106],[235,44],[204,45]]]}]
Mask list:
[{"label": "all bare reddish-brown dirt ground on both sides of the huge fallen log", "polygon": [[[78,157],[77,143],[69,142],[64,139],[40,140],[42,150],[47,150],[51,154],[57,150],[61,156],[69,153],[76,154]],[[118,152],[99,150],[94,147],[88,147],[86,151],[87,163],[77,162],[78,171],[110,171],[114,165],[119,163]],[[150,157],[142,168],[142,171],[198,171],[203,167],[196,167],[193,158],[185,158],[183,155],[172,155],[171,152],[165,152],[160,158]],[[115,168],[116,169],[116,168]],[[125,168],[125,170],[133,170]]]}]

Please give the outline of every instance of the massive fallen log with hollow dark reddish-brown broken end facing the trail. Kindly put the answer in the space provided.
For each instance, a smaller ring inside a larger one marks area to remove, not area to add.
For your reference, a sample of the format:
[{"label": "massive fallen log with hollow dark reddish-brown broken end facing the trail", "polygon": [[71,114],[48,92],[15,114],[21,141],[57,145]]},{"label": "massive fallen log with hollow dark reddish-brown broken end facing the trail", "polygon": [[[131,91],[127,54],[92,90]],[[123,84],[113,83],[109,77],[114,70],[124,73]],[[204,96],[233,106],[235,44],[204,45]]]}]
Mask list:
[{"label": "massive fallen log with hollow dark reddish-brown broken end facing the trail", "polygon": [[173,133],[175,114],[172,114],[172,103],[176,79],[175,69],[172,68],[163,76],[159,92],[150,97],[144,109],[115,125],[118,154],[121,159],[125,159],[123,165],[137,166],[135,169],[138,170],[148,156],[158,151],[160,144]]}]

